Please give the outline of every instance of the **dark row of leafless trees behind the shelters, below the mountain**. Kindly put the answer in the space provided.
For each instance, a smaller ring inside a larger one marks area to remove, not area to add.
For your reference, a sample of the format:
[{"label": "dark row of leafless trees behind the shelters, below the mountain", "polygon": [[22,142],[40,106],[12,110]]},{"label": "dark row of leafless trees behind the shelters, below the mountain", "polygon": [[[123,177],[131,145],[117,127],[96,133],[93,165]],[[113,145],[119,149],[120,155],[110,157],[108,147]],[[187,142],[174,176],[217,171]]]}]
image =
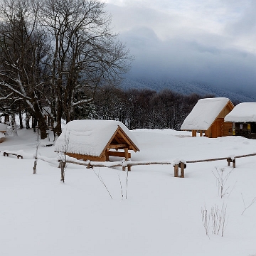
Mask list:
[{"label": "dark row of leafless trees behind the shelters, below the mountain", "polygon": [[[105,86],[97,90],[90,107],[77,111],[77,119],[115,119],[126,124],[129,129],[178,130],[200,98],[200,95],[181,95],[167,89],[156,92]],[[82,117],[82,113],[87,117]]]}]

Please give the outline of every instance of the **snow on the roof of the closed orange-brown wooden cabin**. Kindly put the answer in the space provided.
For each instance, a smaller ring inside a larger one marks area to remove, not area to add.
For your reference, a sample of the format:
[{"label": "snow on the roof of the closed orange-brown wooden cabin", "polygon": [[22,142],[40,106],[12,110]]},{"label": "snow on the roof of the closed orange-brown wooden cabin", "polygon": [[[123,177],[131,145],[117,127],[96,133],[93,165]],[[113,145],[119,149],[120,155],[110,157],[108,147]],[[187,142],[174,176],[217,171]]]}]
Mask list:
[{"label": "snow on the roof of the closed orange-brown wooden cabin", "polygon": [[181,130],[206,131],[229,101],[230,100],[225,97],[198,100],[191,113],[188,114],[181,125]]}]

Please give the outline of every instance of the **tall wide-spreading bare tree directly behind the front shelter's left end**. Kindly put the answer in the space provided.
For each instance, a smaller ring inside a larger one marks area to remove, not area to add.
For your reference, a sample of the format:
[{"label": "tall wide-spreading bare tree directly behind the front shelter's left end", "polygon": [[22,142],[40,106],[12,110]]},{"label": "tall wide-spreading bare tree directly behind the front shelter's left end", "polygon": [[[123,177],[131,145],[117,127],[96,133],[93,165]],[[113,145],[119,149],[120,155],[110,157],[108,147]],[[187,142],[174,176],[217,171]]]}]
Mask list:
[{"label": "tall wide-spreading bare tree directly behind the front shelter's left end", "polygon": [[[74,109],[92,101],[103,82],[117,83],[127,72],[128,51],[110,30],[110,16],[98,0],[46,0],[41,22],[50,35],[48,73],[52,85],[55,133],[61,118],[74,118]],[[76,99],[75,92],[85,92]]]}]

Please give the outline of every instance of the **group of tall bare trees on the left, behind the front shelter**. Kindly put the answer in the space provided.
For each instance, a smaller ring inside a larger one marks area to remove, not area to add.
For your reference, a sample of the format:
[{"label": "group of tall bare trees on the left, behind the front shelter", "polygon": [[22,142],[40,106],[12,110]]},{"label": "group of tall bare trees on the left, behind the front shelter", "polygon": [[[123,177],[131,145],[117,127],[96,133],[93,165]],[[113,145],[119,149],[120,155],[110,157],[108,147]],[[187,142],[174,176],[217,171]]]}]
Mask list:
[{"label": "group of tall bare trees on the left, behind the front shelter", "polygon": [[117,85],[132,58],[104,9],[99,0],[1,0],[0,112],[29,113],[44,139],[43,106],[59,135],[97,87]]}]

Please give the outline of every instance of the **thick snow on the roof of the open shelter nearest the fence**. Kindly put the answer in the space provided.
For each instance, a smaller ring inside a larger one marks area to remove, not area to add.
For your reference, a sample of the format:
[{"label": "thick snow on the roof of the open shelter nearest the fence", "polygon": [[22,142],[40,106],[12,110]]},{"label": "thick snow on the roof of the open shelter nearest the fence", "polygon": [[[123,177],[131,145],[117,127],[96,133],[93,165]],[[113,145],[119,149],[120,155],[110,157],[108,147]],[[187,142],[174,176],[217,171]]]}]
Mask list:
[{"label": "thick snow on the roof of the open shelter nearest the fence", "polygon": [[88,119],[68,122],[55,143],[55,151],[100,156],[119,127],[137,146],[132,132],[122,122]]}]

